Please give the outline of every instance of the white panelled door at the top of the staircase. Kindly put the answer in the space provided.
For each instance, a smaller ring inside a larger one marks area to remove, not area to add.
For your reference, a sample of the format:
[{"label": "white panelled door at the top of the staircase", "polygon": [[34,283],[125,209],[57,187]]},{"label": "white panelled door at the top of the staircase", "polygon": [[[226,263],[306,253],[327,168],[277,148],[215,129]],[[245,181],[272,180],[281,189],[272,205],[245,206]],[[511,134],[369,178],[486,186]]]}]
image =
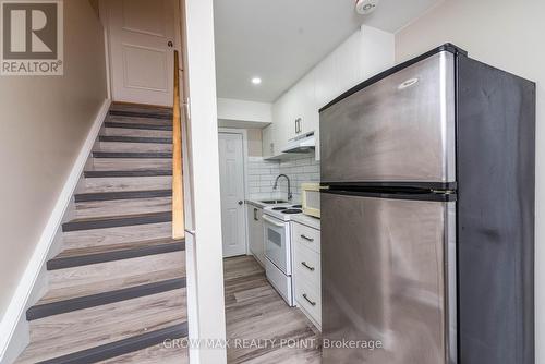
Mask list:
[{"label": "white panelled door at the top of the staircase", "polygon": [[172,106],[174,0],[107,0],[114,101]]}]

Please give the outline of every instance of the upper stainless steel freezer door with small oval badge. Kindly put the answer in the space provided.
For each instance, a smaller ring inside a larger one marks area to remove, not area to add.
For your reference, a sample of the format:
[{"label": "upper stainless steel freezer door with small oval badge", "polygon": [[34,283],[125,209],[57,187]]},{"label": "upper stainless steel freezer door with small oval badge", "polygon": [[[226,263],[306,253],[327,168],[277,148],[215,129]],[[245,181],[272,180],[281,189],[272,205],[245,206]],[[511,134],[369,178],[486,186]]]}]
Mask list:
[{"label": "upper stainless steel freezer door with small oval badge", "polygon": [[320,112],[322,182],[453,182],[455,56],[443,51]]}]

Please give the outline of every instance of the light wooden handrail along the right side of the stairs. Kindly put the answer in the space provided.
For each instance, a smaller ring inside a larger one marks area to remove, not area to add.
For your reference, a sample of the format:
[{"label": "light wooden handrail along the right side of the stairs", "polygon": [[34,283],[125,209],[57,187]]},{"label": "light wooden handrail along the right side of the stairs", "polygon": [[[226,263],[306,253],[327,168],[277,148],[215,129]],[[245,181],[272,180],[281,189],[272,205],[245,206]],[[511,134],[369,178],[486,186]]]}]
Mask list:
[{"label": "light wooden handrail along the right side of the stairs", "polygon": [[182,118],[180,111],[180,56],[174,50],[174,102],[172,106],[172,239],[185,236],[183,216]]}]

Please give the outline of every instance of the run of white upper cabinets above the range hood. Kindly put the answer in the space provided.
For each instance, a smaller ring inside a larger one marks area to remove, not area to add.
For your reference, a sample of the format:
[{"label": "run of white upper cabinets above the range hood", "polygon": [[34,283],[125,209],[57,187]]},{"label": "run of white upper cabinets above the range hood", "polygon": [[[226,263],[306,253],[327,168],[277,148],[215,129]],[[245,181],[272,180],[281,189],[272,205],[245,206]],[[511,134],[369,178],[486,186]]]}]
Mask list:
[{"label": "run of white upper cabinets above the range hood", "polygon": [[278,156],[289,139],[314,132],[316,159],[319,160],[318,110],[359,83],[392,66],[393,51],[392,34],[362,26],[272,105],[272,125],[263,133],[264,157]]}]

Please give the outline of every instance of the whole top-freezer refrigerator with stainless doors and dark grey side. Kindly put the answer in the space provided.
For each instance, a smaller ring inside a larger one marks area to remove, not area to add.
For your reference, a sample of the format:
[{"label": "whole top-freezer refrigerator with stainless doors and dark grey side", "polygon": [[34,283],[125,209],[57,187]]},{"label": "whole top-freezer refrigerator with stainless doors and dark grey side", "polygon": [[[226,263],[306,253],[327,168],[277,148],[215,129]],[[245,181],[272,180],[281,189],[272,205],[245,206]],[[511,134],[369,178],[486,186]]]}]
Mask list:
[{"label": "whole top-freezer refrigerator with stainless doors and dark grey side", "polygon": [[534,130],[450,44],[320,109],[324,364],[534,363]]}]

